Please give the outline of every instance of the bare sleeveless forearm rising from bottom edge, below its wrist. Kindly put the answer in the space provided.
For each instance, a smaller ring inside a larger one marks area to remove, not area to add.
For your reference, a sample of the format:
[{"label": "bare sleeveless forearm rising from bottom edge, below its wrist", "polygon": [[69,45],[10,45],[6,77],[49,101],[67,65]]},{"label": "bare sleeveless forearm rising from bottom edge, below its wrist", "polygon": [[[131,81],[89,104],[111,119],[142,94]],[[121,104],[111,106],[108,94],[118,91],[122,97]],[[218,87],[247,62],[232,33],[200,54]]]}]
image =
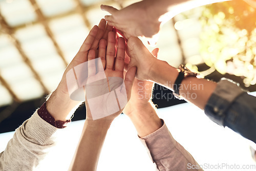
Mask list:
[{"label": "bare sleeveless forearm rising from bottom edge, below its wrist", "polygon": [[96,170],[101,148],[110,127],[107,120],[87,120],[69,170]]}]

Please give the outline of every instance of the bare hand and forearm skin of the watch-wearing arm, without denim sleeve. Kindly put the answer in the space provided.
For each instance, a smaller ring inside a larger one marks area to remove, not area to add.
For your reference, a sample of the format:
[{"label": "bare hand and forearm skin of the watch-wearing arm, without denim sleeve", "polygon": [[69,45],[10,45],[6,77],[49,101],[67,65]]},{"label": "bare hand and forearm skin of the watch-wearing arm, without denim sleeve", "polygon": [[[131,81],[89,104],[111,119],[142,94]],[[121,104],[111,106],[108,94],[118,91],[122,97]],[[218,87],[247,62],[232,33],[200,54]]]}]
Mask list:
[{"label": "bare hand and forearm skin of the watch-wearing arm, without denim sleeve", "polygon": [[[156,59],[137,37],[128,39],[126,52],[131,58],[127,68],[137,67],[136,78],[151,80],[173,90],[179,73],[177,68],[170,66],[166,61]],[[193,89],[190,89],[191,85],[194,86]],[[179,93],[185,100],[204,109],[216,86],[216,82],[197,77],[186,77],[181,82],[182,89],[179,90]]]}]

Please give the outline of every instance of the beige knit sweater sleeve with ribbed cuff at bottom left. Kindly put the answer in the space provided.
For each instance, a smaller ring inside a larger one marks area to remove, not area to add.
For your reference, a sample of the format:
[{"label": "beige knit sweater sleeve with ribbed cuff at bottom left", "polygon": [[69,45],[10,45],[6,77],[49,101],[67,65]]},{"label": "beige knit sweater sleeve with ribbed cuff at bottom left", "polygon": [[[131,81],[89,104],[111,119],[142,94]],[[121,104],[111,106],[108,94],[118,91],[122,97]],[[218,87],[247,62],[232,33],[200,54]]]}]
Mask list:
[{"label": "beige knit sweater sleeve with ribbed cuff at bottom left", "polygon": [[0,154],[0,170],[33,170],[54,146],[57,130],[36,111],[15,130],[5,151]]}]

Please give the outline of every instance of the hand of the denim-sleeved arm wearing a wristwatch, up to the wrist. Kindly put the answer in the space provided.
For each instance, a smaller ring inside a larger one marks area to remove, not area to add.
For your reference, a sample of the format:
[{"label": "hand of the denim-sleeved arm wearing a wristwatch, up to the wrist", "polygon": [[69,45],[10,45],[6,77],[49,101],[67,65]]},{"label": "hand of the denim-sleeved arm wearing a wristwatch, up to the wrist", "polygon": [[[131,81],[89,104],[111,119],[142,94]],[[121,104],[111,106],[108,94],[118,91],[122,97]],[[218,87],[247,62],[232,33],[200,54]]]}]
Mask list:
[{"label": "hand of the denim-sleeved arm wearing a wristwatch, up to the wrist", "polygon": [[151,68],[157,59],[147,50],[139,38],[130,37],[128,39],[126,53],[131,59],[128,69],[135,66],[137,67],[137,79],[150,80]]}]

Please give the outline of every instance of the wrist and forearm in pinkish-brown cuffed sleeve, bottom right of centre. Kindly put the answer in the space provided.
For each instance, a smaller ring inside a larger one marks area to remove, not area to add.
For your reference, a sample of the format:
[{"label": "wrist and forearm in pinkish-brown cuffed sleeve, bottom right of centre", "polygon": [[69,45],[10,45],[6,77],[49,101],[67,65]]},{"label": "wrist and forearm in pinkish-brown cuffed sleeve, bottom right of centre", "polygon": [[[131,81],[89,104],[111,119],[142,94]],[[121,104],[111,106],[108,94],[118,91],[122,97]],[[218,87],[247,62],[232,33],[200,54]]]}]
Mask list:
[{"label": "wrist and forearm in pinkish-brown cuffed sleeve, bottom right of centre", "polygon": [[[195,159],[178,143],[159,119],[150,102],[128,115],[136,127],[138,136],[158,170],[185,170],[188,164],[198,165]],[[141,110],[143,109],[143,110]],[[201,170],[201,169],[195,169]]]}]

